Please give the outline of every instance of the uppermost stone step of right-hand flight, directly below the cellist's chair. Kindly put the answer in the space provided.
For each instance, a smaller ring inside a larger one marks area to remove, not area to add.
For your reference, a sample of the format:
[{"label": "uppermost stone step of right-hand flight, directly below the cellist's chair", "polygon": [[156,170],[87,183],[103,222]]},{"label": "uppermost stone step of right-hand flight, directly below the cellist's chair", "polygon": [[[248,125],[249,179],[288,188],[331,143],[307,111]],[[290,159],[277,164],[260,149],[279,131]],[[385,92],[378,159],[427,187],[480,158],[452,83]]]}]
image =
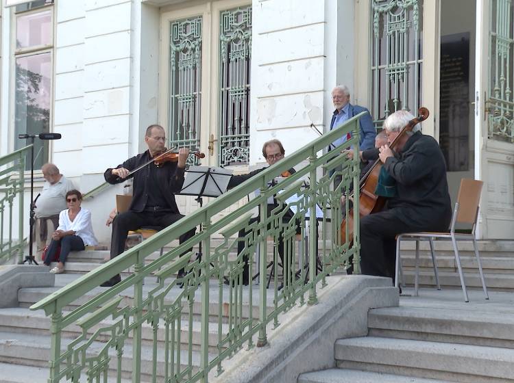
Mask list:
[{"label": "uppermost stone step of right-hand flight, directly below the cellist's chair", "polygon": [[376,308],[368,314],[369,336],[514,349],[514,307],[504,313],[477,310]]}]

